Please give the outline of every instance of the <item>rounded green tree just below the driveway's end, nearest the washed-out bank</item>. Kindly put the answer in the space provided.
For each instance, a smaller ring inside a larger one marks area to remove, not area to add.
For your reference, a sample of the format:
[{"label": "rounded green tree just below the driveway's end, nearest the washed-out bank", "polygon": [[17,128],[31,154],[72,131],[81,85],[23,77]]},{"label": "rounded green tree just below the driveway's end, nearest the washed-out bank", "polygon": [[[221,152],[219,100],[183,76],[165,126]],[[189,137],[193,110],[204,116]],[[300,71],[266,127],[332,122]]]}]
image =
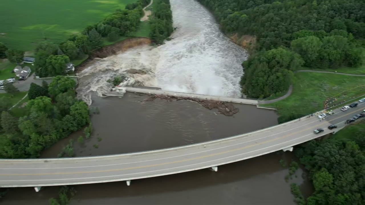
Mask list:
[{"label": "rounded green tree just below the driveway's end, nearest the washed-out bank", "polygon": [[75,86],[76,82],[72,78],[65,76],[56,76],[49,84],[48,92],[51,97],[55,97],[60,93],[65,93],[68,90],[74,89]]}]

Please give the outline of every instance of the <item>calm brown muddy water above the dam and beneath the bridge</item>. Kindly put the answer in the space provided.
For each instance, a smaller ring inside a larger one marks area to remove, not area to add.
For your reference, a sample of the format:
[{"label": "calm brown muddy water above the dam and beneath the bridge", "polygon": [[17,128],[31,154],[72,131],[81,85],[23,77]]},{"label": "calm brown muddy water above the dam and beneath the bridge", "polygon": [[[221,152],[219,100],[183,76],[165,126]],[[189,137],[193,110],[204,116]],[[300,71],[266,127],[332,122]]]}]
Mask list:
[{"label": "calm brown muddy water above the dam and beneath the bridge", "polygon": [[[84,145],[76,142],[77,132],[43,152],[42,157],[55,157],[69,139],[75,139],[77,156],[118,154],[154,150],[214,140],[250,132],[277,124],[274,111],[251,105],[236,104],[239,113],[233,117],[208,110],[187,100],[141,102],[148,96],[127,93],[123,98],[93,96],[92,107],[100,114],[92,116],[94,132]],[[102,140],[98,142],[97,138]],[[94,148],[93,144],[99,144]],[[218,172],[208,169],[175,175],[138,179],[127,186],[125,182],[75,186],[77,194],[71,205],[118,204],[280,204],[294,205],[290,183],[301,186],[304,195],[311,193],[311,185],[297,171],[285,182],[290,152],[276,152],[256,158],[219,166]],[[48,204],[57,197],[58,187],[43,187],[38,193],[32,187],[12,188],[4,205]]]}]

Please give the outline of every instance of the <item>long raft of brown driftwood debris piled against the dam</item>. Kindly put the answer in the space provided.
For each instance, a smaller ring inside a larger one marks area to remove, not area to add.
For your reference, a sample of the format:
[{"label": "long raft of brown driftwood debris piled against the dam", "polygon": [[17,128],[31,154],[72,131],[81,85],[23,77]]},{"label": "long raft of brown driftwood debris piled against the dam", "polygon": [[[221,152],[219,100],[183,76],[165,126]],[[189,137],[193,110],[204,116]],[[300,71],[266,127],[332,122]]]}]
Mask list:
[{"label": "long raft of brown driftwood debris piled against the dam", "polygon": [[230,102],[222,102],[217,100],[200,100],[191,97],[176,97],[176,96],[167,96],[167,95],[158,95],[158,94],[151,94],[151,97],[144,99],[142,101],[153,101],[155,99],[161,100],[190,100],[203,105],[207,109],[218,109],[218,112],[226,115],[226,116],[233,116],[234,114],[239,112],[239,109],[234,107],[234,105]]}]

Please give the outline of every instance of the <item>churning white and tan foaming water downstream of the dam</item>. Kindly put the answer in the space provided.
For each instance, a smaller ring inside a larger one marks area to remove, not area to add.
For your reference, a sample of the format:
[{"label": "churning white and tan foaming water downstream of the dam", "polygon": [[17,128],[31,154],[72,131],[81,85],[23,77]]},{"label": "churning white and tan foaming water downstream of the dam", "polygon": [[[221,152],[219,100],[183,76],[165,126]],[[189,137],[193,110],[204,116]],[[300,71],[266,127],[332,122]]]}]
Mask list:
[{"label": "churning white and tan foaming water downstream of the dam", "polygon": [[[106,81],[129,69],[145,86],[216,96],[241,96],[239,80],[247,53],[222,34],[214,17],[195,0],[170,0],[174,27],[172,40],[158,47],[142,46],[104,59],[78,75],[78,93],[108,92]],[[87,100],[87,99],[85,99]]]}]

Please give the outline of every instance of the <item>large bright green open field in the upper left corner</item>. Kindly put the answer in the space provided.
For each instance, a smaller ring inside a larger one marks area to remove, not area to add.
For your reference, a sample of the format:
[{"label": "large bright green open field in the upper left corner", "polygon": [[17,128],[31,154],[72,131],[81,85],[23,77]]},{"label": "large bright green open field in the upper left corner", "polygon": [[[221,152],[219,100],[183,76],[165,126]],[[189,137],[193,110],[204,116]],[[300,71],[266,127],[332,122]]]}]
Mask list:
[{"label": "large bright green open field in the upper left corner", "polygon": [[31,51],[38,42],[61,42],[135,1],[1,0],[0,41],[12,49]]}]

